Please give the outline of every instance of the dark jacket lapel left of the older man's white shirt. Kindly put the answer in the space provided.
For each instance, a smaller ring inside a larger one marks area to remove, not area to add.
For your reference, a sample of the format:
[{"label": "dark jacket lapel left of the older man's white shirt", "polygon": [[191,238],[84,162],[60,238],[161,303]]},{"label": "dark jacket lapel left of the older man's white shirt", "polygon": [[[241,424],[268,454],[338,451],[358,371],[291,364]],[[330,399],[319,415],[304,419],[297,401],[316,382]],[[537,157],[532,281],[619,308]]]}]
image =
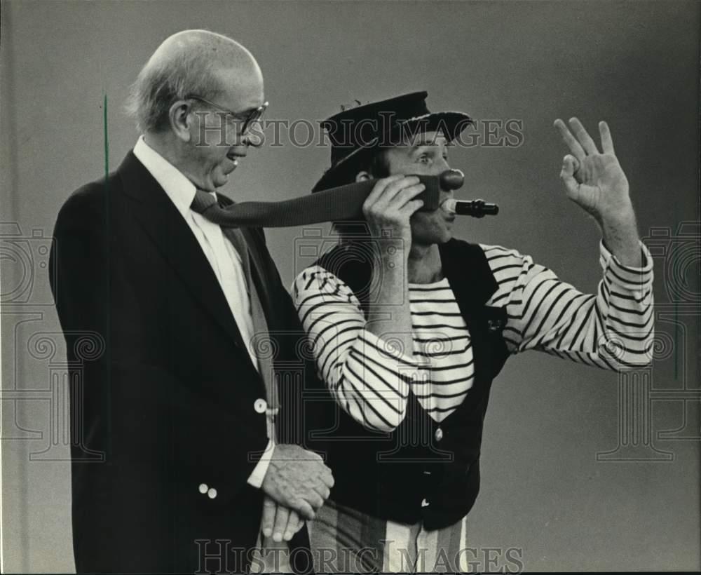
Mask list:
[{"label": "dark jacket lapel left of the older man's white shirt", "polygon": [[156,244],[177,276],[236,344],[250,356],[212,266],[180,212],[151,173],[130,151],[118,169],[123,191],[133,202],[132,214]]}]

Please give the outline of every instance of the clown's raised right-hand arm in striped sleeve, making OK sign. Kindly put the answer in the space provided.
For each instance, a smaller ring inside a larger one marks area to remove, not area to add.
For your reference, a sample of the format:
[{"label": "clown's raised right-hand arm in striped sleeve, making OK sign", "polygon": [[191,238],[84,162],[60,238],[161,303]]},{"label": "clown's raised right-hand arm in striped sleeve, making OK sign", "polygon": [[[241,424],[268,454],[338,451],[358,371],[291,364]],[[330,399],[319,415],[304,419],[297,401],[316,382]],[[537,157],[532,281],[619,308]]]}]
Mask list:
[{"label": "clown's raised right-hand arm in striped sleeve, making OK sign", "polygon": [[595,295],[583,294],[530,257],[485,247],[499,282],[492,302],[508,309],[505,338],[513,351],[540,349],[609,369],[646,365],[654,329],[652,259],[639,239],[611,132],[599,123],[600,153],[578,119],[570,120],[572,131],[559,119],[555,126],[571,151],[560,172],[567,196],[602,232],[603,278]]}]

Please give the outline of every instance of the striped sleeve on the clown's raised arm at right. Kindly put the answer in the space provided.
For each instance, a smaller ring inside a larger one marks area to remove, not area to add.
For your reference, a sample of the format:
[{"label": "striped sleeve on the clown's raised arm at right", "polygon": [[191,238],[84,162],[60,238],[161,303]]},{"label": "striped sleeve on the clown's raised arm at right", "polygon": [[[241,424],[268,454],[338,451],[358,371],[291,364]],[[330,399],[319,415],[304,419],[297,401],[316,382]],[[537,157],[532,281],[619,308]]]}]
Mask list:
[{"label": "striped sleeve on the clown's raised arm at right", "polygon": [[605,369],[646,365],[653,339],[653,272],[623,266],[600,245],[603,278],[596,294],[559,280],[529,256],[482,246],[499,288],[490,305],[505,306],[504,338],[513,353],[537,349]]}]

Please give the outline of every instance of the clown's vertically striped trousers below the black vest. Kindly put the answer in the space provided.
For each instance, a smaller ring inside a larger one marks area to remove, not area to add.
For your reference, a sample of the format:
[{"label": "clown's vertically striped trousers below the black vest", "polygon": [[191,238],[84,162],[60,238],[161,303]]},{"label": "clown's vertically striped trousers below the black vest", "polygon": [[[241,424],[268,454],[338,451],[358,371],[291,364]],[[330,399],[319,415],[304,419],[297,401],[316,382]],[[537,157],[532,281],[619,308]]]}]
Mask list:
[{"label": "clown's vertically striped trousers below the black vest", "polygon": [[322,573],[468,572],[467,517],[426,531],[381,520],[330,499],[308,522],[314,570]]}]

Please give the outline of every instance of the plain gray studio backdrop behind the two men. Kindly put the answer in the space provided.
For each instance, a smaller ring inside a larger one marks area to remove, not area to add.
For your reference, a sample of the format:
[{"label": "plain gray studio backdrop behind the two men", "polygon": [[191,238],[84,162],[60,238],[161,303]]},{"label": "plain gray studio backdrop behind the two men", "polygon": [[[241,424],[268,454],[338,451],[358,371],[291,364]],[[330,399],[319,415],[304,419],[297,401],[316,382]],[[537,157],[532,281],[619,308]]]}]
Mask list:
[{"label": "plain gray studio backdrop behind the two men", "polygon": [[[497,135],[451,151],[466,174],[461,194],[502,208],[494,219],[461,219],[456,235],[518,248],[585,291],[599,279],[599,234],[564,196],[565,149],[552,121],[577,115],[594,131],[599,119],[610,123],[641,233],[654,247],[658,359],[619,376],[542,353],[513,358],[486,417],[470,545],[479,569],[489,569],[488,555],[491,569],[505,567],[509,549],[531,571],[699,569],[700,6],[4,2],[6,571],[74,568],[64,344],[46,269],[57,210],[104,175],[106,160],[111,169],[121,162],[137,137],[121,111],[130,82],[161,40],[193,27],[250,48],[264,72],[268,118],[301,120],[294,137],[252,150],[226,193],[306,193],[329,151],[293,145],[309,139],[305,120],[426,89],[433,109],[522,122],[517,146],[485,145]],[[268,232],[288,285],[309,263],[310,243],[325,241],[315,234]]]}]

